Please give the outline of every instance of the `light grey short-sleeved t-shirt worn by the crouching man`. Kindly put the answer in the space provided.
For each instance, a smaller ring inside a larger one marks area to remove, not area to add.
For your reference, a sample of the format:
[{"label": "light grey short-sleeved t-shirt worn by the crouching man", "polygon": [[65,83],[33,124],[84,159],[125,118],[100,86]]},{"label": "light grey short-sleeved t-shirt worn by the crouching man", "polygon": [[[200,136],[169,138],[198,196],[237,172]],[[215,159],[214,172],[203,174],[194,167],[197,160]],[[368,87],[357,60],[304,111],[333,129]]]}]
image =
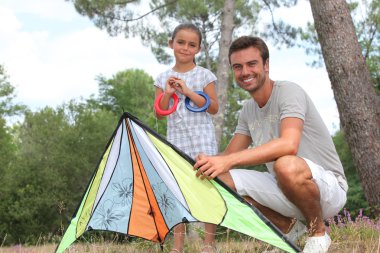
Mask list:
[{"label": "light grey short-sleeved t-shirt worn by the crouching man", "polygon": [[[333,172],[339,185],[347,191],[343,166],[330,133],[312,100],[297,84],[276,81],[268,102],[262,108],[253,99],[247,100],[239,115],[235,133],[250,136],[252,146],[257,147],[279,138],[280,122],[288,117],[299,118],[304,122],[297,155]],[[273,162],[266,166],[274,174]]]}]

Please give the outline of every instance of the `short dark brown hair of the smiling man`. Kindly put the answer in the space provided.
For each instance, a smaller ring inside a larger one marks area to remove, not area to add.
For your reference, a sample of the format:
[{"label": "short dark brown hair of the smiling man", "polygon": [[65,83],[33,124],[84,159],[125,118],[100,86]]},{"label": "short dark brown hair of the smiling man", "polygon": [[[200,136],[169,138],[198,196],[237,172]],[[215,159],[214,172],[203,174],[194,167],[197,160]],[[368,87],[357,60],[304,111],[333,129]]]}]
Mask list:
[{"label": "short dark brown hair of the smiling man", "polygon": [[231,54],[247,49],[249,47],[257,48],[261,53],[261,58],[263,59],[263,63],[269,59],[269,49],[267,47],[267,44],[259,38],[254,36],[242,36],[240,38],[237,38],[234,40],[230,46],[230,50],[228,52],[228,60],[231,63]]}]

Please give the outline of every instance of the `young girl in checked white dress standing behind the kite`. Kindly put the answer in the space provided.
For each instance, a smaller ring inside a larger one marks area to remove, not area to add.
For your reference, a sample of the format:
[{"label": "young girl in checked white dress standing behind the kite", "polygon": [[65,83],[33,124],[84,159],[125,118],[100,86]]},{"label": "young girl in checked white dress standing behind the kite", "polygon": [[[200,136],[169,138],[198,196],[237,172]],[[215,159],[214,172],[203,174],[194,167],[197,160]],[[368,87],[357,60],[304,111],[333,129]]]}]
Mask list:
[{"label": "young girl in checked white dress standing behind the kite", "polygon": [[[199,153],[217,153],[215,129],[210,114],[218,112],[215,90],[216,76],[209,70],[195,64],[195,55],[201,49],[202,35],[193,24],[177,26],[169,40],[173,49],[175,65],[161,73],[154,85],[156,98],[162,95],[159,107],[167,110],[173,106],[170,98],[175,93],[179,98],[177,109],[168,115],[167,140],[195,159]],[[192,112],[185,106],[188,97],[194,107],[201,108],[206,100],[195,91],[203,91],[210,98],[207,111]],[[163,118],[156,112],[157,118]],[[205,224],[205,239],[202,253],[215,252],[215,230],[213,224]],[[174,247],[171,253],[182,253],[185,239],[185,225],[174,228]]]}]

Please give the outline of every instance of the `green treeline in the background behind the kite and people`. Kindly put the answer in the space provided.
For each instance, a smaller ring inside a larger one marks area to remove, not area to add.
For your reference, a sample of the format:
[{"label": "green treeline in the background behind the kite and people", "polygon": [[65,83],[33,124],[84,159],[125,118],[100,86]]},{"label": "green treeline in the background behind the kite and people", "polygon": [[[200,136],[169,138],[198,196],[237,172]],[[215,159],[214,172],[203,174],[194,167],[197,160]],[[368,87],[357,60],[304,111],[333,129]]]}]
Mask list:
[{"label": "green treeline in the background behind the kite and people", "polygon": [[[0,65],[0,241],[35,244],[62,235],[99,162],[119,116],[128,111],[165,135],[165,121],[153,114],[153,79],[126,70],[98,77],[99,95],[56,108],[31,111],[13,103],[14,88]],[[247,95],[229,88],[223,149],[234,131],[239,101]],[[20,117],[9,126],[6,119]],[[367,203],[342,132],[334,136],[349,180],[351,212]]]}]

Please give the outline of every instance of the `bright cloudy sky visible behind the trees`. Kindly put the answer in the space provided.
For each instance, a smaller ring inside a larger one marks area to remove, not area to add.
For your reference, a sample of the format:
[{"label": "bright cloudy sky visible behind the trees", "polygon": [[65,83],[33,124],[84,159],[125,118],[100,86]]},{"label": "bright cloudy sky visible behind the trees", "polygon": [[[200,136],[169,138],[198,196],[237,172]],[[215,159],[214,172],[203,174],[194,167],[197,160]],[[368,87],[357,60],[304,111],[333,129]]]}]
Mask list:
[{"label": "bright cloudy sky visible behind the trees", "polygon": [[[312,20],[307,1],[278,15],[293,25]],[[271,79],[303,87],[333,134],[339,114],[325,68],[307,66],[312,58],[303,49],[278,50],[269,41],[268,47]],[[159,64],[138,38],[109,36],[64,0],[1,0],[0,64],[15,87],[15,102],[34,111],[96,95],[99,75],[112,78],[134,68],[155,78],[171,67]]]}]

